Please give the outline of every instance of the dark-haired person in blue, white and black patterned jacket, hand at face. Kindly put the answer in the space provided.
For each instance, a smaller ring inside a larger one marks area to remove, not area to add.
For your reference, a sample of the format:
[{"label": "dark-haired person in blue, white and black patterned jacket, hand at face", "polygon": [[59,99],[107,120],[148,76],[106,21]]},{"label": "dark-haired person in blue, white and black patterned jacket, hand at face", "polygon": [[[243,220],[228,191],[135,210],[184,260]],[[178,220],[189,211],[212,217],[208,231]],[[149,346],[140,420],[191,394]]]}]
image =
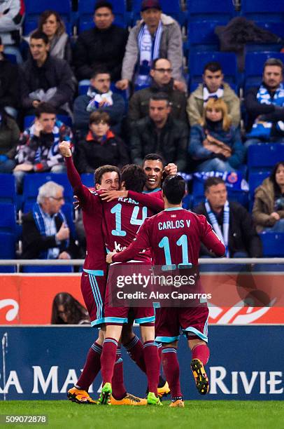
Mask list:
[{"label": "dark-haired person in blue, white and black patterned jacket, hand at face", "polygon": [[55,108],[41,103],[36,109],[36,119],[20,137],[13,170],[17,189],[22,187],[22,179],[27,172],[64,172],[64,158],[59,154],[58,145],[62,140],[70,141],[72,132],[56,118]]}]

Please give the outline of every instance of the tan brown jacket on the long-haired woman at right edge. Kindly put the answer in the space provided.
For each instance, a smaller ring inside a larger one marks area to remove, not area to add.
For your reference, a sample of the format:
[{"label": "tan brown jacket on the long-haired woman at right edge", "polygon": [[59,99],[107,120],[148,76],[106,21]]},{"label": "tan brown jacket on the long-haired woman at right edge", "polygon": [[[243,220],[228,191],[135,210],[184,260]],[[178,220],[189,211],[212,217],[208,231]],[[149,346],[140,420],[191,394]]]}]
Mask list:
[{"label": "tan brown jacket on the long-haired woman at right edge", "polygon": [[[253,203],[253,219],[257,225],[257,232],[261,232],[265,227],[274,226],[276,219],[270,217],[274,210],[275,191],[274,184],[267,177],[262,184],[255,189],[255,201]],[[284,218],[284,210],[278,210],[279,216]]]}]

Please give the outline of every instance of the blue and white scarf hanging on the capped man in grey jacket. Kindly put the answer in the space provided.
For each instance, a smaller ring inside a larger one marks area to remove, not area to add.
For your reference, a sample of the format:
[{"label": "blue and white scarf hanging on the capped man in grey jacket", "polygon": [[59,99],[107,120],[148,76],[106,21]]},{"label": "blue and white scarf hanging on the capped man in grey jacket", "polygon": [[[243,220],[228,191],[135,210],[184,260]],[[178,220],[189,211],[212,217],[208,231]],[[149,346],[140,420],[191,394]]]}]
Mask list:
[{"label": "blue and white scarf hanging on the capped man in grey jacket", "polygon": [[152,61],[156,58],[159,58],[159,46],[161,43],[162,29],[163,25],[162,21],[160,20],[154,40],[152,40],[152,36],[148,30],[147,25],[144,24],[141,26],[138,35],[140,64],[135,79],[136,85],[142,86],[150,84],[149,72]]}]

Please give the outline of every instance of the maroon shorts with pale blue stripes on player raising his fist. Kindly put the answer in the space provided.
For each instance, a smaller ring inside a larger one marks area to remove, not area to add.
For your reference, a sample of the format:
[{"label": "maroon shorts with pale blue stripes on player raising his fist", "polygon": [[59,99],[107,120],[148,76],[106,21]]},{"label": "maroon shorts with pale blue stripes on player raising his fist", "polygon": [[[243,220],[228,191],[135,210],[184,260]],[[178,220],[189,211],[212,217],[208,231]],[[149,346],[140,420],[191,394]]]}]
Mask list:
[{"label": "maroon shorts with pale blue stripes on player raising his fist", "polygon": [[102,264],[97,270],[83,268],[81,277],[81,292],[91,325],[98,326],[104,323],[104,300],[106,294],[107,266]]}]

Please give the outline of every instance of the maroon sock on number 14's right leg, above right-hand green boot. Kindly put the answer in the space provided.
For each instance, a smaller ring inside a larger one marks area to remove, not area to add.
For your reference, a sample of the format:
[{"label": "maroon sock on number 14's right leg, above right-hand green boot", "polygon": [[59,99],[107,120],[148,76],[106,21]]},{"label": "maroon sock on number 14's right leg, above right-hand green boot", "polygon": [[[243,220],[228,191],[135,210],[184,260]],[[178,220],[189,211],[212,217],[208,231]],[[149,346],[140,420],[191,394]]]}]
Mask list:
[{"label": "maroon sock on number 14's right leg, above right-hand green boot", "polygon": [[146,365],[149,392],[157,396],[157,386],[159,383],[159,356],[157,344],[154,341],[145,341],[143,354]]}]

